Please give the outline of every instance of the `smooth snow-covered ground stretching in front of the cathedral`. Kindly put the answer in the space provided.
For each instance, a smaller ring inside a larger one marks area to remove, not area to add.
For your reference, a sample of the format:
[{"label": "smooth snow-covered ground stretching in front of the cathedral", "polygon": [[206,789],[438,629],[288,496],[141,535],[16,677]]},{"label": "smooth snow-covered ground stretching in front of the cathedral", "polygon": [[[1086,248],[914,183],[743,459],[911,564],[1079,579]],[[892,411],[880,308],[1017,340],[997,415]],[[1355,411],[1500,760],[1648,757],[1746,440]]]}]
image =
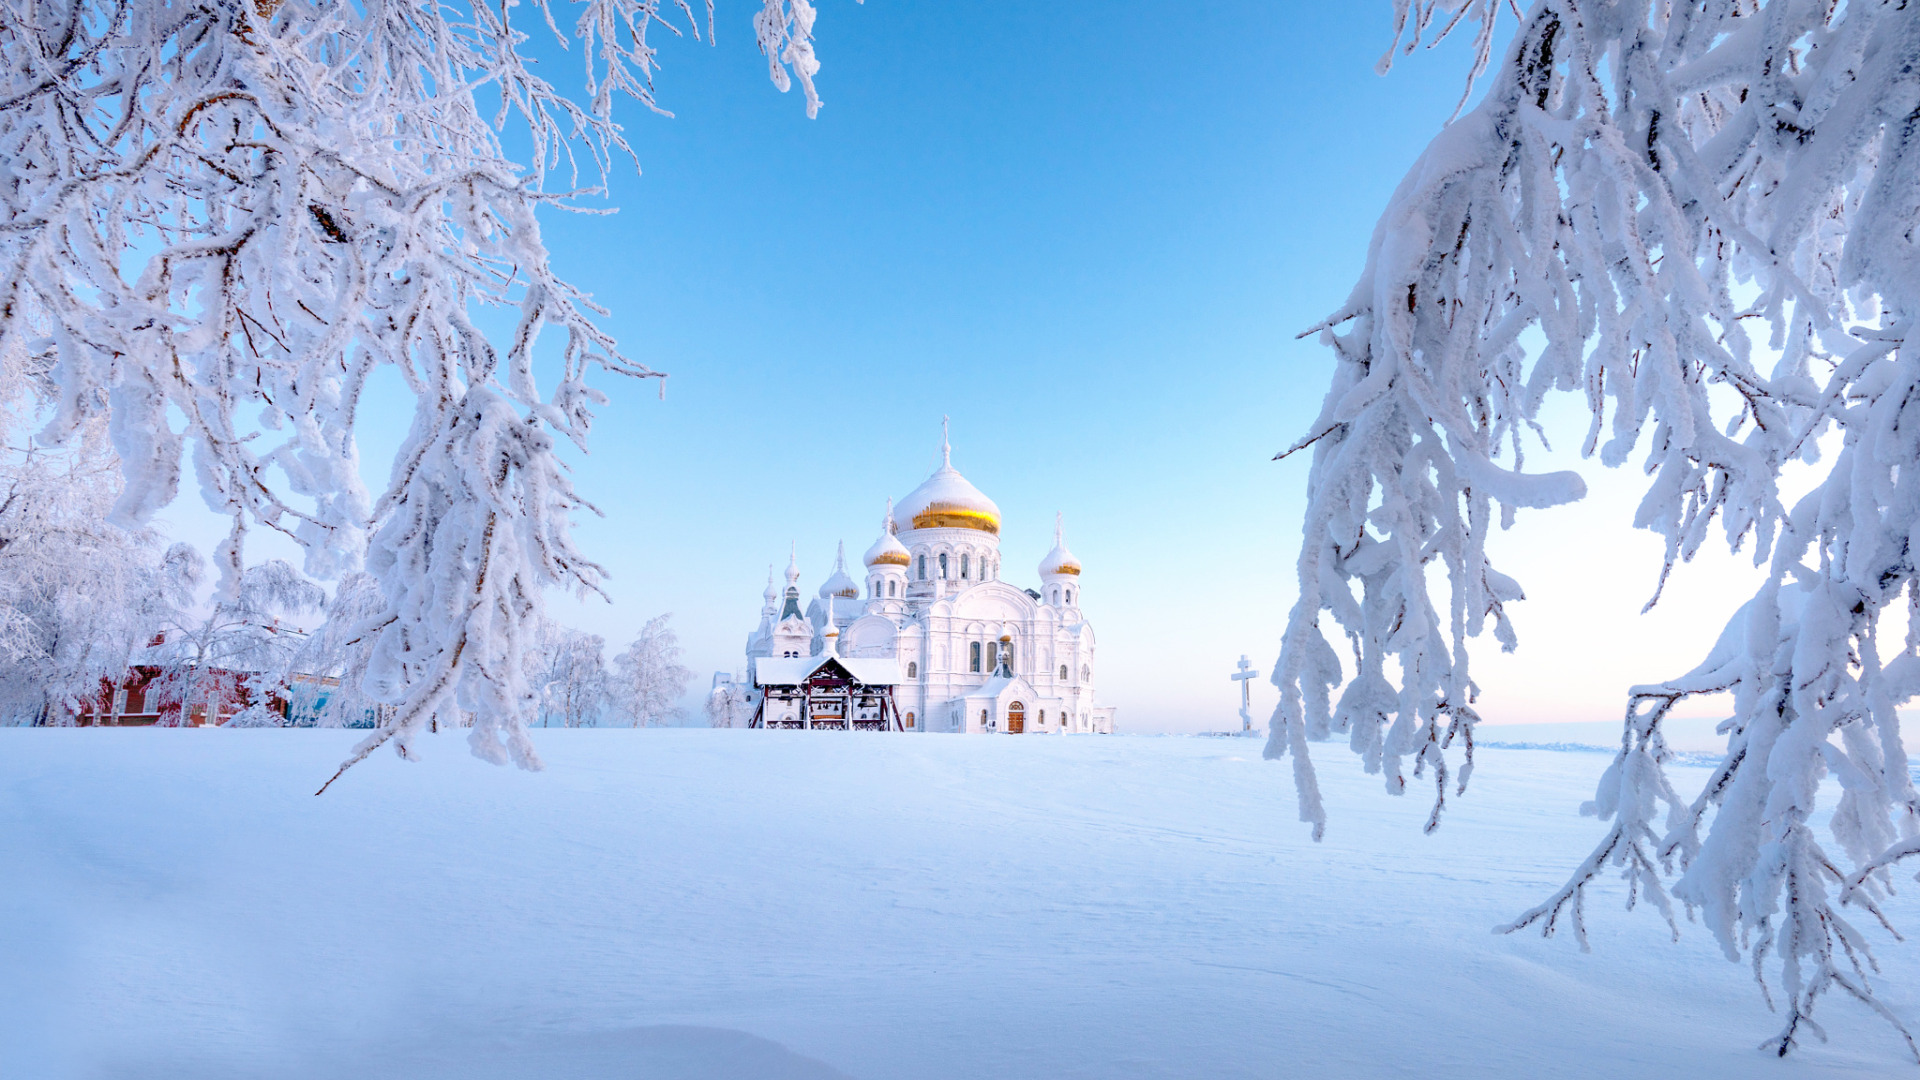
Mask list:
[{"label": "smooth snow-covered ground stretching in front of the cathedral", "polygon": [[0,1076],[1914,1068],[1837,997],[1761,1055],[1749,970],[1651,911],[1590,911],[1590,955],[1488,932],[1588,851],[1601,753],[1486,751],[1421,836],[1329,748],[1315,846],[1246,740],[555,730],[528,774],[453,736],[313,798],[351,738],[0,730]]}]

